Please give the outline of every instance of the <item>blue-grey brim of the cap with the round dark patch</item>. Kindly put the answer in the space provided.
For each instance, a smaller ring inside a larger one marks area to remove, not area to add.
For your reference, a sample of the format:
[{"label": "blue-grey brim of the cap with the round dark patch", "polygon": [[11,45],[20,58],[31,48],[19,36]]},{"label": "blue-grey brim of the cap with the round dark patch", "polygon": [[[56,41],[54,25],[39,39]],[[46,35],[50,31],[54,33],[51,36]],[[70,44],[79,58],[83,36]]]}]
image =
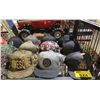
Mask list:
[{"label": "blue-grey brim of the cap with the round dark patch", "polygon": [[34,70],[34,74],[37,77],[40,78],[55,78],[59,75],[60,69],[59,68],[55,68],[55,69],[51,69],[51,70],[41,70],[39,68],[35,68]]}]

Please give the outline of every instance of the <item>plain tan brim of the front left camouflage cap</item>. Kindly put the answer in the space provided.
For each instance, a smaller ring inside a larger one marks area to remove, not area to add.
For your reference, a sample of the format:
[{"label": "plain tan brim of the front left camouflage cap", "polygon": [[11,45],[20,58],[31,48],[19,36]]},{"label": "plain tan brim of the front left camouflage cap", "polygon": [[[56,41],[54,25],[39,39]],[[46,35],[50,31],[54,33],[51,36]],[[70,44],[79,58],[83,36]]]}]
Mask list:
[{"label": "plain tan brim of the front left camouflage cap", "polygon": [[34,66],[31,66],[31,67],[27,68],[26,70],[22,70],[22,71],[12,72],[12,71],[8,70],[7,77],[9,79],[21,79],[21,78],[25,78],[25,77],[32,75],[33,71],[34,71]]}]

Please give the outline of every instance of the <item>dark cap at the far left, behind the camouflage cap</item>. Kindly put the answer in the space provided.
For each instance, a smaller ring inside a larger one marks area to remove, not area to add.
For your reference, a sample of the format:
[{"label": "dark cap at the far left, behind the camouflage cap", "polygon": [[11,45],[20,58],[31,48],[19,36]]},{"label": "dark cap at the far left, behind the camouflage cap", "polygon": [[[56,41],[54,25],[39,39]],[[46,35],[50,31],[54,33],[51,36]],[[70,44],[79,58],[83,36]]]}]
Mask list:
[{"label": "dark cap at the far left, behind the camouflage cap", "polygon": [[16,37],[16,36],[11,37],[8,40],[8,44],[11,45],[11,46],[14,46],[15,48],[19,48],[22,43],[23,43],[22,40],[19,37]]}]

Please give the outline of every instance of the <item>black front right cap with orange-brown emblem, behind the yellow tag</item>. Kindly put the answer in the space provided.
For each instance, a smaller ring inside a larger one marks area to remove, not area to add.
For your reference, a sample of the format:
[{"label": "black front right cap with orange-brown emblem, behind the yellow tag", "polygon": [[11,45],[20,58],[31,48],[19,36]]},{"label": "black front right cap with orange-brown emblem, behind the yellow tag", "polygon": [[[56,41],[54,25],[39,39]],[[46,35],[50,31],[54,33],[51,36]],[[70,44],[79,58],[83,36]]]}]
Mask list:
[{"label": "black front right cap with orange-brown emblem, behind the yellow tag", "polygon": [[68,66],[69,75],[74,79],[80,79],[75,77],[75,71],[87,71],[87,65],[84,62],[83,54],[80,52],[74,52],[67,55],[65,63]]}]

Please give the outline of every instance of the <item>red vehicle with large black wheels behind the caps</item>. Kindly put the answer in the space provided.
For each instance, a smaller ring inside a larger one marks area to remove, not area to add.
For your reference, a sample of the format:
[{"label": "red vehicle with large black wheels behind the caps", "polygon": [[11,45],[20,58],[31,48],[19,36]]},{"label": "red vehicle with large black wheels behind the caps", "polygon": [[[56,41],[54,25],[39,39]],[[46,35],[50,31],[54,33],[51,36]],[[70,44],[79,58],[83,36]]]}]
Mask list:
[{"label": "red vehicle with large black wheels behind the caps", "polygon": [[50,33],[60,38],[64,33],[65,20],[18,20],[19,37],[24,40],[30,34]]}]

